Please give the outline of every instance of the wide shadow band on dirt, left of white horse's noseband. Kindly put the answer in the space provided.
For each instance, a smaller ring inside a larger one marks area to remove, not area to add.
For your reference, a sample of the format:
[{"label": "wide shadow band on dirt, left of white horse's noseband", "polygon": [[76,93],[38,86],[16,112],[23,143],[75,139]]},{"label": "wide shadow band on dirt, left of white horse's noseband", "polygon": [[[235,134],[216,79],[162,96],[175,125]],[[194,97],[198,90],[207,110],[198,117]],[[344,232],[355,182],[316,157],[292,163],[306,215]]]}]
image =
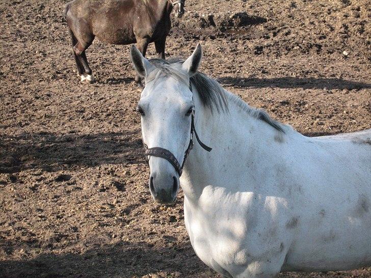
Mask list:
[{"label": "wide shadow band on dirt, left of white horse's noseband", "polygon": [[66,166],[144,163],[140,131],[96,134],[49,132],[0,135],[0,173]]}]

